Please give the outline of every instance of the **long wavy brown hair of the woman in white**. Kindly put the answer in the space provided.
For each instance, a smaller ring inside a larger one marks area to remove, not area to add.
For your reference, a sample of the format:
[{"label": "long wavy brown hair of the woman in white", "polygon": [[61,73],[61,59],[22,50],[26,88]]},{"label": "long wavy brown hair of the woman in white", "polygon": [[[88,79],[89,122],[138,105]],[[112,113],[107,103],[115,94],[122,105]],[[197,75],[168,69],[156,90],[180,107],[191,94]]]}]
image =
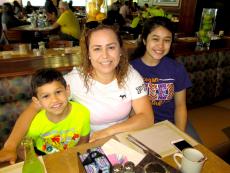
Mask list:
[{"label": "long wavy brown hair of the woman in white", "polygon": [[91,64],[91,61],[89,59],[89,44],[90,44],[90,37],[92,36],[92,33],[99,30],[111,30],[114,32],[114,34],[117,37],[117,41],[119,42],[120,48],[121,48],[121,56],[120,61],[115,69],[116,79],[118,82],[119,87],[123,87],[125,83],[125,77],[128,73],[128,56],[127,53],[123,49],[123,43],[122,39],[119,35],[119,33],[116,31],[116,29],[112,26],[107,25],[99,25],[96,28],[93,29],[84,29],[81,40],[80,40],[80,47],[81,47],[81,72],[84,77],[84,83],[85,87],[89,89],[89,79],[92,78],[92,71],[93,66]]}]

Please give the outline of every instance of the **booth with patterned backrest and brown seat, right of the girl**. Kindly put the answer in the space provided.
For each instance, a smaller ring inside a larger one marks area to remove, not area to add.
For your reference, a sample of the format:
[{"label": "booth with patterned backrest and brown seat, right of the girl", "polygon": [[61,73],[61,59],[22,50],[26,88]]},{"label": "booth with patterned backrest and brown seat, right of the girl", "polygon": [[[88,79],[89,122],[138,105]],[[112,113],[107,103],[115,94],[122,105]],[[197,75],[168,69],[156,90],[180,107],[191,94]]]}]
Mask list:
[{"label": "booth with patterned backrest and brown seat, right of the girl", "polygon": [[176,57],[193,86],[187,90],[188,118],[203,144],[230,161],[230,50]]}]

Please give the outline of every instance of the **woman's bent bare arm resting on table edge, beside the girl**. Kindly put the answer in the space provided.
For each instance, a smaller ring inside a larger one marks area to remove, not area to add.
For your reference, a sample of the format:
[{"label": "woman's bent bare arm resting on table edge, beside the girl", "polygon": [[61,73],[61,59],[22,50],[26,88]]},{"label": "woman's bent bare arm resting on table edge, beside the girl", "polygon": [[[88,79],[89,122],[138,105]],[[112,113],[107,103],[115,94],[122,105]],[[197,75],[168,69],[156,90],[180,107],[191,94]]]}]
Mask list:
[{"label": "woman's bent bare arm resting on table edge, beside the girl", "polygon": [[153,110],[148,96],[133,100],[132,107],[135,112],[134,115],[122,123],[94,132],[90,138],[90,142],[121,132],[147,128],[154,124]]}]

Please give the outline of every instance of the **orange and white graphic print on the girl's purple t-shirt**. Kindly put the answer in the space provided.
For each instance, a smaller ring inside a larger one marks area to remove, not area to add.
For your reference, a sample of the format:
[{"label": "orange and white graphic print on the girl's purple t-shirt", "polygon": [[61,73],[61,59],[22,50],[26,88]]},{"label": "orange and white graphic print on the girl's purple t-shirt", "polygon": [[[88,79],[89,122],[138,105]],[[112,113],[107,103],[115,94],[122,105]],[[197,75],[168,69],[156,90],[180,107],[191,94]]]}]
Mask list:
[{"label": "orange and white graphic print on the girl's purple t-shirt", "polygon": [[152,105],[161,106],[173,99],[173,79],[145,78],[144,81]]}]

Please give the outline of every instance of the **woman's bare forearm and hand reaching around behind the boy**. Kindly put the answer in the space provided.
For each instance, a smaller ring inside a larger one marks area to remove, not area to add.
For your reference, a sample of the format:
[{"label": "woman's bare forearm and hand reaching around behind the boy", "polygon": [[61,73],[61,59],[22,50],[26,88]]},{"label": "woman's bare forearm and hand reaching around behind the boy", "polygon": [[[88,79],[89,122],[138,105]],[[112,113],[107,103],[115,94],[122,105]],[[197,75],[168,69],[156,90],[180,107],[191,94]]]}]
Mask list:
[{"label": "woman's bare forearm and hand reaching around behind the boy", "polygon": [[31,102],[30,105],[17,119],[14,128],[4,144],[3,149],[0,150],[0,161],[10,161],[11,164],[15,163],[17,158],[17,147],[22,138],[25,136],[29,126],[40,108]]}]

